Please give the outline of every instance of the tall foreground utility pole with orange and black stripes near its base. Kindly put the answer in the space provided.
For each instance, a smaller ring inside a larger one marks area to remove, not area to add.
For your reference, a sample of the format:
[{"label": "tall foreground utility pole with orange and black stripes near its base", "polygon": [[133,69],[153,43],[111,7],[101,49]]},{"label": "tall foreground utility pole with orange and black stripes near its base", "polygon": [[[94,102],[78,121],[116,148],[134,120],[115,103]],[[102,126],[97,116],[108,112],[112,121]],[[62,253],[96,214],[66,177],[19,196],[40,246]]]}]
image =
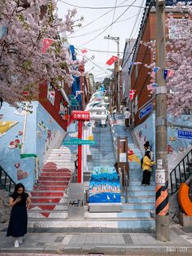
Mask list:
[{"label": "tall foreground utility pole with orange and black stripes near its base", "polygon": [[156,0],[156,240],[169,241],[168,157],[167,157],[167,88],[165,64],[165,0]]}]

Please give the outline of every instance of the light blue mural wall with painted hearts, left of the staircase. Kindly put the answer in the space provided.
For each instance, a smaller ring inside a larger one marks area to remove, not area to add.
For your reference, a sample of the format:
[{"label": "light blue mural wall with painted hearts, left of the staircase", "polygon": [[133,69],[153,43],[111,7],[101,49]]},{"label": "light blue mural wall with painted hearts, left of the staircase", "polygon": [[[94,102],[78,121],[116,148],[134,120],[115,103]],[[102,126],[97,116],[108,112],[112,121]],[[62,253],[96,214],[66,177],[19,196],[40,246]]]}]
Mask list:
[{"label": "light blue mural wall with painted hearts, left of the staircase", "polygon": [[[22,153],[37,155],[41,168],[47,153],[62,141],[65,132],[41,104],[33,102],[32,106],[32,113],[26,117]],[[24,111],[3,103],[0,110],[0,165],[15,183],[24,183],[25,188],[31,191],[36,178],[36,157],[20,158],[24,115]]]}]

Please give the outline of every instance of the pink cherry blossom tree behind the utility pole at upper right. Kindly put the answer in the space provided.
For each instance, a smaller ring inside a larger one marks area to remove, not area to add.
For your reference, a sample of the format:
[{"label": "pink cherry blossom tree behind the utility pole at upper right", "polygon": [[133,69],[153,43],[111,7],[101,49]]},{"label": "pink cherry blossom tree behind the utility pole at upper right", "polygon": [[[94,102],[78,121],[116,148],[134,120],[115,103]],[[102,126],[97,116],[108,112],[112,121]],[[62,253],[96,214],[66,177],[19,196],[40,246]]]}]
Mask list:
[{"label": "pink cherry blossom tree behind the utility pole at upper right", "polygon": [[[191,3],[178,2],[173,11],[181,16],[174,17],[174,13],[168,15],[166,20],[166,65],[174,73],[166,77],[168,87],[168,113],[187,113],[192,108],[192,6]],[[153,62],[145,64],[150,69],[151,94],[155,93],[155,40],[140,42],[151,49]],[[159,70],[158,72],[163,72]]]}]

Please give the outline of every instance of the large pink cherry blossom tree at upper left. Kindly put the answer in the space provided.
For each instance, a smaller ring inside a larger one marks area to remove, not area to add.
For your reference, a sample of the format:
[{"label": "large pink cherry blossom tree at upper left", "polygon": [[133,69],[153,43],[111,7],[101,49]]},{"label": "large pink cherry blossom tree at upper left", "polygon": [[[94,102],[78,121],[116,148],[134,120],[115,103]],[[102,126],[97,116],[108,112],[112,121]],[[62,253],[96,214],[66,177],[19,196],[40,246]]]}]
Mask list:
[{"label": "large pink cherry blossom tree at upper left", "polygon": [[[55,86],[62,79],[72,86],[78,61],[70,60],[66,31],[75,26],[76,10],[59,19],[55,0],[2,0],[0,7],[0,97],[17,106],[38,95],[41,82]],[[4,29],[4,30],[3,30]],[[54,39],[42,52],[44,38]]]}]

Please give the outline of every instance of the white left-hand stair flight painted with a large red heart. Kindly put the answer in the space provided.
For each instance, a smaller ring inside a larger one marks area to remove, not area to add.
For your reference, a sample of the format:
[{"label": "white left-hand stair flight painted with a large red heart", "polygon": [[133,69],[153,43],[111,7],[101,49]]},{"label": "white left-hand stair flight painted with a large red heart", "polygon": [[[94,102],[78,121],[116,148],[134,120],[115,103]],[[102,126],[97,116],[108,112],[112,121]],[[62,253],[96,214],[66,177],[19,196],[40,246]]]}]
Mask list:
[{"label": "white left-hand stair flight painted with a large red heart", "polygon": [[[28,212],[29,227],[40,225],[42,219],[67,218],[68,183],[75,166],[72,153],[66,147],[54,148],[31,192],[32,205]],[[40,221],[39,221],[40,219]]]}]

